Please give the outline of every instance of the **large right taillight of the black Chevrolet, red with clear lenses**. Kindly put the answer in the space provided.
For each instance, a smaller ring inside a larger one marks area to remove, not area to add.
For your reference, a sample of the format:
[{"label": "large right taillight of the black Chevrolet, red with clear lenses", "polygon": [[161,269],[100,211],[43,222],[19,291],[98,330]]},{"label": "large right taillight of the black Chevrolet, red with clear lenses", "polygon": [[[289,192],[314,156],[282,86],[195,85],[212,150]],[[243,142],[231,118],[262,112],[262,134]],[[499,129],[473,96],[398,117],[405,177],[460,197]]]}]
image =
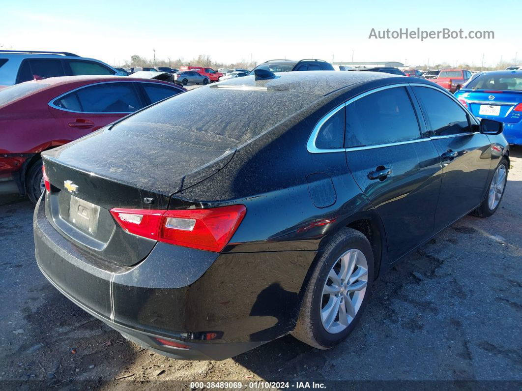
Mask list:
[{"label": "large right taillight of the black Chevrolet, red with clear lenses", "polygon": [[127,232],[164,243],[220,252],[246,214],[244,205],[208,209],[158,210],[113,208]]}]

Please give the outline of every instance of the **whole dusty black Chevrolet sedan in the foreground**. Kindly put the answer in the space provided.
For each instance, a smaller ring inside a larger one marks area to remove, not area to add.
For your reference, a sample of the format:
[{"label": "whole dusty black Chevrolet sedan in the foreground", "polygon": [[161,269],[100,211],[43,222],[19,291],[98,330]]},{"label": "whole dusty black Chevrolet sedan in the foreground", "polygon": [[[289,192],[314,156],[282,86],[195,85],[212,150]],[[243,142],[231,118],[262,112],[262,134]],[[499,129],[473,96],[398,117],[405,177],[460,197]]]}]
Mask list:
[{"label": "whole dusty black Chevrolet sedan in the foreground", "polygon": [[333,347],[372,283],[499,207],[502,124],[428,80],[259,72],[44,152],[36,258],[66,297],[166,356],[293,334]]}]

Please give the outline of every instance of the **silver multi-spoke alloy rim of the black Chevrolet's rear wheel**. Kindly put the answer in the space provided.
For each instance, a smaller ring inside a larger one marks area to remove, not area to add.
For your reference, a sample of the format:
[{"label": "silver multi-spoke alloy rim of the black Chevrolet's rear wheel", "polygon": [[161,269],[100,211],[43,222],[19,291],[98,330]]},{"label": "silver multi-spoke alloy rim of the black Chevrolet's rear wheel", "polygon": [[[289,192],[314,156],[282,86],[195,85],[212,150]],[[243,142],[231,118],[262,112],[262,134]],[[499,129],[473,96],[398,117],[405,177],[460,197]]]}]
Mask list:
[{"label": "silver multi-spoke alloy rim of the black Chevrolet's rear wheel", "polygon": [[321,303],[321,321],[330,334],[348,327],[359,311],[366,293],[368,264],[364,254],[352,248],[330,269]]}]

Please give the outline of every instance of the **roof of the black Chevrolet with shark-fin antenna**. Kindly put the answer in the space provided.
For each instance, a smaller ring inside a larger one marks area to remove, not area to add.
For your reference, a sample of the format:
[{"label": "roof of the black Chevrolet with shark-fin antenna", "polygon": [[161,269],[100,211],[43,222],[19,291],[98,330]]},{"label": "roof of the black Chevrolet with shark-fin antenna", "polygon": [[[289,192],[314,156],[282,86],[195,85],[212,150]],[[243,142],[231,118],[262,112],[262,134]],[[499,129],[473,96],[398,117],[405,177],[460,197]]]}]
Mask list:
[{"label": "roof of the black Chevrolet with shark-fin antenna", "polygon": [[[308,70],[306,72],[281,72],[275,74],[271,79],[255,80],[255,76],[244,76],[228,79],[219,84],[212,85],[213,88],[252,88],[267,90],[291,90],[313,93],[326,96],[341,88],[361,84],[376,79],[400,78],[408,82],[405,76],[392,75],[382,72],[339,72],[337,70]],[[413,78],[411,78],[412,80]],[[419,82],[420,79],[414,79]],[[422,81],[421,81],[422,82]],[[432,82],[426,81],[432,85]]]}]

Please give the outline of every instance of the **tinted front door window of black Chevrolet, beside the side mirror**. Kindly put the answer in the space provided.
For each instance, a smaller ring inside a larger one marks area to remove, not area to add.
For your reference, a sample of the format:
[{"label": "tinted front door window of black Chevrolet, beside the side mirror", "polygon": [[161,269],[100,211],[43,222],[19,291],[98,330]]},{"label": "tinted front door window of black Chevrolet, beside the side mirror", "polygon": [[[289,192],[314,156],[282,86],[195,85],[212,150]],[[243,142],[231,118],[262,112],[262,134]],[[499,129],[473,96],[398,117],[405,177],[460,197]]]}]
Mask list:
[{"label": "tinted front door window of black Chevrolet, beside the side mirror", "polygon": [[413,87],[426,125],[435,136],[471,132],[468,116],[457,102],[443,92],[428,87]]}]

